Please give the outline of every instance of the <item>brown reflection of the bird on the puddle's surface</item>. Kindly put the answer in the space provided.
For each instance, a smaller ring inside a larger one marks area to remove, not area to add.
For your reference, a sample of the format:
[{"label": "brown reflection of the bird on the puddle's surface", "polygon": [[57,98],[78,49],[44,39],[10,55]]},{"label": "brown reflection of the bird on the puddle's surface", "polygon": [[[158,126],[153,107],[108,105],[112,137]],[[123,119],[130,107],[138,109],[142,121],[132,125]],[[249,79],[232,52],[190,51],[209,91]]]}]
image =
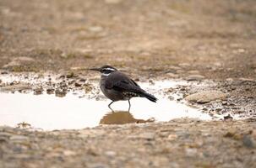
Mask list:
[{"label": "brown reflection of the bird on the puddle's surface", "polygon": [[124,123],[151,123],[154,122],[154,118],[147,120],[135,119],[133,115],[127,111],[119,111],[115,113],[107,113],[103,118],[101,118],[101,124],[124,124]]}]

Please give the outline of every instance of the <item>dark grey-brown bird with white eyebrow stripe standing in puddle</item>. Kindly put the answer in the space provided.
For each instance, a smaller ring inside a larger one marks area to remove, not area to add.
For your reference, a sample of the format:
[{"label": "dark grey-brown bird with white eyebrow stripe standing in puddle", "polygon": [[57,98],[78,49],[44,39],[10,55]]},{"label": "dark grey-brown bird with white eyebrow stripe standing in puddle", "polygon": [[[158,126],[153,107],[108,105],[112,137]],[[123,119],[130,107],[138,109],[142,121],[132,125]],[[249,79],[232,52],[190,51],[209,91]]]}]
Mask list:
[{"label": "dark grey-brown bird with white eyebrow stripe standing in puddle", "polygon": [[101,92],[112,100],[112,102],[108,104],[108,108],[110,108],[112,112],[114,112],[114,110],[111,108],[111,105],[113,102],[117,101],[128,101],[128,112],[130,112],[130,99],[132,97],[145,97],[151,102],[157,101],[155,96],[145,92],[133,79],[121,71],[118,71],[115,67],[101,66],[100,68],[90,68],[89,70],[101,72]]}]

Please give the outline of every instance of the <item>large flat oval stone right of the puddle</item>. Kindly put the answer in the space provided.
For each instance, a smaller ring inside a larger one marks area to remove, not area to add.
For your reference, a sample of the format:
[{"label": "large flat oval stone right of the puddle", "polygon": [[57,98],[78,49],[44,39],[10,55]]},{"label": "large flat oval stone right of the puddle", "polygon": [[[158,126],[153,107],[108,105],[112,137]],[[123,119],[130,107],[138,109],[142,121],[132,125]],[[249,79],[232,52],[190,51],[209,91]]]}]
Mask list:
[{"label": "large flat oval stone right of the puddle", "polygon": [[185,97],[185,100],[188,102],[207,103],[225,97],[227,97],[227,94],[221,91],[204,91],[189,95],[188,97]]}]

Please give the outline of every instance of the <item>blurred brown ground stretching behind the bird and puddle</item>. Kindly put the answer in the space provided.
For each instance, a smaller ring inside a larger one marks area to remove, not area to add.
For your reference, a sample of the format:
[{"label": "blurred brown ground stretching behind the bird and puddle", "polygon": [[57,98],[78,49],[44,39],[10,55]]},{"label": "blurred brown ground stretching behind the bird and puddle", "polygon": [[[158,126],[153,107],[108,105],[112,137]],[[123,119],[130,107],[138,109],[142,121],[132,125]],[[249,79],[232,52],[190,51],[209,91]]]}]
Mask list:
[{"label": "blurred brown ground stretching behind the bird and puddle", "polygon": [[254,0],[1,0],[0,68],[255,76]]}]

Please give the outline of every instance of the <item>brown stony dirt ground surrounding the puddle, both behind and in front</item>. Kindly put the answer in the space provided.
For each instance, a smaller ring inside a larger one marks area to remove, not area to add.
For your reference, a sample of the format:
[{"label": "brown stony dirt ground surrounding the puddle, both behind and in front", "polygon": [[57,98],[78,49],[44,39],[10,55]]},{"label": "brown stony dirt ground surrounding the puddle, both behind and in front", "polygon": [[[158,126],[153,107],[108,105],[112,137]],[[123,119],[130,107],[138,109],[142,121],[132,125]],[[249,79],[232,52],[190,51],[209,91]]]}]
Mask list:
[{"label": "brown stony dirt ground surrounding the puddle, both behind and in front", "polygon": [[[255,118],[255,18],[254,0],[0,0],[0,69],[91,79],[95,73],[82,68],[112,65],[137,81],[214,81],[203,90],[229,97],[201,108]],[[201,89],[179,91],[187,96]],[[0,167],[255,167],[255,124],[179,120],[35,134],[1,129]],[[85,137],[77,136],[83,131]],[[21,143],[12,141],[16,134]]]}]

